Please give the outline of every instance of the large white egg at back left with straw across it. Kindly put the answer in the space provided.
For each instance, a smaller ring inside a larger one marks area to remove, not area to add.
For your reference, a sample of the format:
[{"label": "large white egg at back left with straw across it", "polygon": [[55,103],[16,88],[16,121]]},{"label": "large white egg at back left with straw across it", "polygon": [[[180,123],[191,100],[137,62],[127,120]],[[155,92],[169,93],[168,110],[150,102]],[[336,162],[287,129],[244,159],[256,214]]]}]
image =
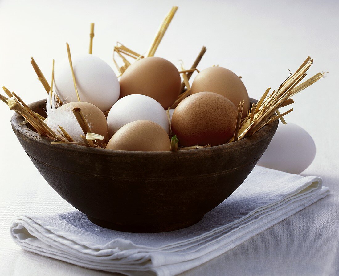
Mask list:
[{"label": "large white egg at back left with straw across it", "polygon": [[[90,54],[74,54],[72,63],[80,100],[103,112],[108,111],[120,95],[119,81],[113,69]],[[68,58],[55,62],[54,79],[55,91],[66,103],[78,100]]]}]

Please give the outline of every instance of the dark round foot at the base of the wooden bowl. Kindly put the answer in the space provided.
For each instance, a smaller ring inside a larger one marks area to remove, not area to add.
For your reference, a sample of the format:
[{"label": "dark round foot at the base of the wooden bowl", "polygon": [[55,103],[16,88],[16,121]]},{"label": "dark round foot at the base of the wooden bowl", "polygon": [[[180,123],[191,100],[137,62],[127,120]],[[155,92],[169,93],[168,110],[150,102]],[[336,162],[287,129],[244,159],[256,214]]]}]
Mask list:
[{"label": "dark round foot at the base of the wooden bowl", "polygon": [[160,233],[160,232],[175,231],[175,230],[179,230],[179,229],[191,226],[193,224],[196,224],[203,217],[204,216],[201,215],[188,221],[176,222],[176,223],[171,223],[171,224],[130,225],[130,224],[115,223],[112,221],[105,221],[105,220],[96,219],[96,218],[87,216],[87,218],[91,222],[93,222],[94,224],[98,226],[112,229],[112,230],[131,232],[131,233]]}]

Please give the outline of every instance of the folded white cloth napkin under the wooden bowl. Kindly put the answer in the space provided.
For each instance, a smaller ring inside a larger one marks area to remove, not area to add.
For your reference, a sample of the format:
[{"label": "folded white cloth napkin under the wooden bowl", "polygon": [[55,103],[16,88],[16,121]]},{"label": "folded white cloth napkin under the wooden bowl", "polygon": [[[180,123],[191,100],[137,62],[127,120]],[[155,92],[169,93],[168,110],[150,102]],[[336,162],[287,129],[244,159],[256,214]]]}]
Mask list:
[{"label": "folded white cloth napkin under the wooden bowl", "polygon": [[197,224],[178,231],[113,231],[71,211],[18,216],[11,234],[27,251],[86,268],[131,276],[170,276],[215,258],[329,192],[319,177],[256,166],[223,203]]}]

